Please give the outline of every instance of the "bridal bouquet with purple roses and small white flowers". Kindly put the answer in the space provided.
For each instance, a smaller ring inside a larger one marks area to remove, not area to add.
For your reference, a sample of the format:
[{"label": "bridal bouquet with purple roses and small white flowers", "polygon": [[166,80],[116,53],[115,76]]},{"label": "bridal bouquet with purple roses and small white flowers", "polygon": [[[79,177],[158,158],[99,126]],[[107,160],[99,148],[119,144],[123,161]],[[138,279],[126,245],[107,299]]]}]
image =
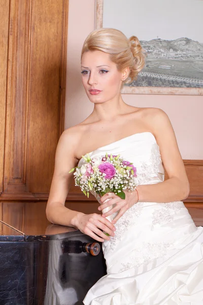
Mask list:
[{"label": "bridal bouquet with purple roses and small white flowers", "polygon": [[[121,199],[125,199],[123,190],[136,189],[137,170],[129,161],[125,161],[120,155],[108,155],[90,158],[89,154],[82,156],[84,163],[81,167],[74,167],[69,173],[75,171],[75,185],[89,198],[89,191],[103,196],[113,192]],[[99,201],[99,199],[97,199]],[[107,202],[110,199],[105,200]],[[104,202],[104,203],[105,203]],[[99,202],[101,203],[101,202]],[[103,214],[112,206],[103,209]],[[107,217],[112,221],[112,215]]]}]

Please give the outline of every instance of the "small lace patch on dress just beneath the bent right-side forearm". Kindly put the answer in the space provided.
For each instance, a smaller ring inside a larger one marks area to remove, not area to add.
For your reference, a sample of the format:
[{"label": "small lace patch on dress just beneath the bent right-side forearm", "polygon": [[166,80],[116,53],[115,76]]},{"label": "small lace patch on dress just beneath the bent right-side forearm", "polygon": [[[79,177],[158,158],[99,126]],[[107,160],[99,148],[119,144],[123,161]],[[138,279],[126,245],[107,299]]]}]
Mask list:
[{"label": "small lace patch on dress just beneath the bent right-side forearm", "polygon": [[154,210],[152,214],[152,224],[157,225],[163,222],[168,223],[174,220],[174,217],[182,208],[180,201],[174,201],[169,203],[160,203],[160,208]]}]

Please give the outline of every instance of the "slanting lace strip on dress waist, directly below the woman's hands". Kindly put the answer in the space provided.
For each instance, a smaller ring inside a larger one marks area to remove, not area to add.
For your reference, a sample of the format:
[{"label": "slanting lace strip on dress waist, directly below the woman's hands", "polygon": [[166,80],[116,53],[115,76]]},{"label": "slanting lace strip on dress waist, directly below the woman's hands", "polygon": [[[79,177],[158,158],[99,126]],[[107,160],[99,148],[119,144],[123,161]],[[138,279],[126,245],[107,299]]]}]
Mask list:
[{"label": "slanting lace strip on dress waist, directly below the woman's hands", "polygon": [[114,250],[116,243],[121,240],[123,234],[128,230],[129,226],[133,226],[136,223],[130,222],[130,219],[138,218],[141,216],[143,210],[143,202],[138,202],[132,205],[121,218],[115,224],[116,231],[115,236],[109,240],[111,250]]}]

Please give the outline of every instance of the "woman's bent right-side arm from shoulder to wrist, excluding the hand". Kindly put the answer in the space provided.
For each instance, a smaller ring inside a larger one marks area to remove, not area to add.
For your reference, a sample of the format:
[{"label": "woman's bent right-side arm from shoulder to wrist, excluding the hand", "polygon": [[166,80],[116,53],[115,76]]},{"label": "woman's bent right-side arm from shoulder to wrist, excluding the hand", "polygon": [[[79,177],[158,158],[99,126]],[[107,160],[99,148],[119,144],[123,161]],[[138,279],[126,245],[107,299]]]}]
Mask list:
[{"label": "woman's bent right-side arm from shoulder to wrist, excluding the hand", "polygon": [[139,201],[171,202],[186,199],[189,182],[170,119],[161,109],[151,109],[148,120],[153,127],[168,179],[154,185],[138,186]]}]

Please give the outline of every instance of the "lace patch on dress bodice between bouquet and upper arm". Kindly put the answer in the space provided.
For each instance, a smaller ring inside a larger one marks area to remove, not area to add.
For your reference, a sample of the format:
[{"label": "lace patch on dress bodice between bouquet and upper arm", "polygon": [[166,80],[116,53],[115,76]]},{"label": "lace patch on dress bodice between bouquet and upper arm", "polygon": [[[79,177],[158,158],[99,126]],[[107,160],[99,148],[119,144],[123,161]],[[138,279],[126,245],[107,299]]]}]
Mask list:
[{"label": "lace patch on dress bodice between bouquet and upper arm", "polygon": [[152,147],[150,159],[147,162],[142,163],[141,167],[137,169],[137,184],[147,184],[151,178],[156,177],[159,172],[160,164],[162,164],[162,160],[159,146],[157,145],[156,149]]}]

